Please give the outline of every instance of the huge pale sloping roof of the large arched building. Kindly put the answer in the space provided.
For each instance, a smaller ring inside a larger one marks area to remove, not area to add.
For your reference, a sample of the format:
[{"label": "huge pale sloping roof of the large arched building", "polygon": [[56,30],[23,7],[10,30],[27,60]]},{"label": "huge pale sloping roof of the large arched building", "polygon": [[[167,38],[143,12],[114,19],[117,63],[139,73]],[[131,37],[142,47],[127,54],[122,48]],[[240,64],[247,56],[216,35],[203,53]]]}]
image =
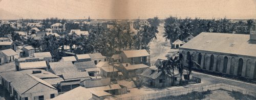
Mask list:
[{"label": "huge pale sloping roof of the large arched building", "polygon": [[250,35],[202,32],[180,49],[194,49],[228,54],[256,56],[256,44],[249,42]]}]

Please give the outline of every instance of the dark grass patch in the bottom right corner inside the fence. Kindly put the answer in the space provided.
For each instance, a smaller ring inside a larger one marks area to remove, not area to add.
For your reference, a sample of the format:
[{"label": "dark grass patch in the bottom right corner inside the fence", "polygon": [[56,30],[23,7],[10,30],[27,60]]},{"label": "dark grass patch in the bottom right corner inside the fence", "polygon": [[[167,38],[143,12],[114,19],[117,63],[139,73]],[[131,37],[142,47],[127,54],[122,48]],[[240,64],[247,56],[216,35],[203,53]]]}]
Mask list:
[{"label": "dark grass patch in the bottom right corner inside the fence", "polygon": [[234,97],[234,99],[256,99],[256,97],[253,97],[253,96],[247,95],[247,94],[243,94],[238,91],[229,92],[229,95]]}]

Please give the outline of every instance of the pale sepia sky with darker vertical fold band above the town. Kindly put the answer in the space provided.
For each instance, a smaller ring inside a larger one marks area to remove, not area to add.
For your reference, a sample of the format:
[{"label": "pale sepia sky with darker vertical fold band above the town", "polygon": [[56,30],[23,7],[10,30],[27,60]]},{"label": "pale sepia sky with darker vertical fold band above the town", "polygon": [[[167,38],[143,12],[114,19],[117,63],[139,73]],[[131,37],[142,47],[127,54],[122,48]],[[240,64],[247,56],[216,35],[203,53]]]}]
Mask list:
[{"label": "pale sepia sky with darker vertical fold band above the town", "polygon": [[0,0],[2,19],[256,19],[256,0]]}]

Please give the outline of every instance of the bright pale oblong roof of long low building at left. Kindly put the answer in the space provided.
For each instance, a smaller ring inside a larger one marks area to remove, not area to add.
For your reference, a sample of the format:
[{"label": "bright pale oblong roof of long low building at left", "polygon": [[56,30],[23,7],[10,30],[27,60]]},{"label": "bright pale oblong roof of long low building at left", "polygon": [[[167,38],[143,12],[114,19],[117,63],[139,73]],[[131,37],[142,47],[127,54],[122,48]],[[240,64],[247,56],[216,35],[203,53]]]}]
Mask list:
[{"label": "bright pale oblong roof of long low building at left", "polygon": [[20,62],[20,69],[38,69],[47,68],[46,61]]}]

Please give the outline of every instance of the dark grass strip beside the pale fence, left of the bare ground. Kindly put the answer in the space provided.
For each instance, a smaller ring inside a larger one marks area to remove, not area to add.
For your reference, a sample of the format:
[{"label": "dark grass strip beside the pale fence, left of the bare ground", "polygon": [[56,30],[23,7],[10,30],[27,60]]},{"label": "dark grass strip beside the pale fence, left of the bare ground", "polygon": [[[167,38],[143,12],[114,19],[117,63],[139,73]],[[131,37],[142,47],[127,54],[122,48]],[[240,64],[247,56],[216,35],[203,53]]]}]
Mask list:
[{"label": "dark grass strip beside the pale fence, left of the bare ground", "polygon": [[207,90],[205,92],[197,92],[197,91],[193,91],[187,94],[183,94],[183,95],[179,95],[179,96],[166,96],[166,97],[161,97],[161,98],[157,98],[157,99],[174,99],[174,100],[180,100],[180,99],[203,99],[206,97],[206,95],[211,94],[210,90]]}]

